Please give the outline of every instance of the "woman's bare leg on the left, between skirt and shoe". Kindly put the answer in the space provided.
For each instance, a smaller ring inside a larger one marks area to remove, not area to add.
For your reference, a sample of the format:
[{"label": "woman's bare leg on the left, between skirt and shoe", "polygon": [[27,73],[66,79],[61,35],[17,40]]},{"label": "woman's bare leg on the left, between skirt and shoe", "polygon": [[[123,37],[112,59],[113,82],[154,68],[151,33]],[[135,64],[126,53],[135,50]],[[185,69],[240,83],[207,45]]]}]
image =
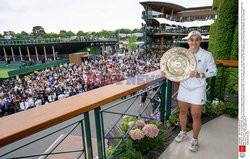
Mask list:
[{"label": "woman's bare leg on the left, between skirt and shoe", "polygon": [[181,123],[181,131],[186,132],[186,124],[187,124],[187,112],[189,108],[189,104],[186,102],[178,101],[178,105],[180,108],[179,118]]}]

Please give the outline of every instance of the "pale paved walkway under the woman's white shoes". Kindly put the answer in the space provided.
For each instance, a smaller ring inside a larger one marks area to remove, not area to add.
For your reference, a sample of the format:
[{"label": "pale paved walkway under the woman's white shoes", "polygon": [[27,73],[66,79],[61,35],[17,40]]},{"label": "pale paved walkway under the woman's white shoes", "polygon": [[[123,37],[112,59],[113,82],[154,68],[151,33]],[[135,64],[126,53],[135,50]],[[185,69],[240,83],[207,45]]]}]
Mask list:
[{"label": "pale paved walkway under the woman's white shoes", "polygon": [[158,159],[236,159],[238,158],[238,120],[222,115],[202,125],[199,151],[188,150],[188,140],[173,141]]}]

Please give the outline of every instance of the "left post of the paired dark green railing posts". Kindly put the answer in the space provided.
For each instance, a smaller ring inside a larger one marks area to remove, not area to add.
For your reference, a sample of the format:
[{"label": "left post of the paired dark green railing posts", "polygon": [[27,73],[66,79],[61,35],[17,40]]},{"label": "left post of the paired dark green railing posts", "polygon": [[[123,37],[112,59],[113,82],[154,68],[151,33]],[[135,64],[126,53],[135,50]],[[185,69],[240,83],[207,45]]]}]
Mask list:
[{"label": "left post of the paired dark green railing posts", "polygon": [[91,132],[90,132],[90,121],[89,121],[89,112],[84,113],[85,117],[85,130],[86,130],[86,141],[87,141],[87,150],[88,150],[88,158],[93,158],[92,151],[92,141],[91,141]]}]

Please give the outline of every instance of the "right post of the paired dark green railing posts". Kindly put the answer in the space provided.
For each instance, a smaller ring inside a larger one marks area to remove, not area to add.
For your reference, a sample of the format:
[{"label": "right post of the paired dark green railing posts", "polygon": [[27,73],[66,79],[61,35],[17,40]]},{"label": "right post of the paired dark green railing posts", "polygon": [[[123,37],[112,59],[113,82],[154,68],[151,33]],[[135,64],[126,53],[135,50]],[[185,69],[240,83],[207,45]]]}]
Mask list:
[{"label": "right post of the paired dark green railing posts", "polygon": [[105,151],[103,149],[103,144],[102,143],[104,140],[102,140],[102,133],[103,133],[103,129],[101,127],[101,118],[100,118],[100,107],[96,108],[94,110],[95,112],[95,125],[96,125],[96,140],[97,140],[97,148],[98,148],[98,158],[99,159],[103,159],[103,151]]}]

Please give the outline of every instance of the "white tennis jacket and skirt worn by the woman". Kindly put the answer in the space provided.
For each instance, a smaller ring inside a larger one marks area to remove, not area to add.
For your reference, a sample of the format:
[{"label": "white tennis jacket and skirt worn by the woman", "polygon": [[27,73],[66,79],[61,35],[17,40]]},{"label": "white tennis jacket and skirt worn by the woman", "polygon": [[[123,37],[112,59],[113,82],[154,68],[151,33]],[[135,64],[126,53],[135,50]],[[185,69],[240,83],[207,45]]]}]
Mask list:
[{"label": "white tennis jacket and skirt worn by the woman", "polygon": [[188,78],[180,82],[177,100],[190,104],[203,105],[207,101],[206,78],[216,76],[217,68],[212,54],[201,47],[195,53],[196,71],[205,74],[205,78]]}]

